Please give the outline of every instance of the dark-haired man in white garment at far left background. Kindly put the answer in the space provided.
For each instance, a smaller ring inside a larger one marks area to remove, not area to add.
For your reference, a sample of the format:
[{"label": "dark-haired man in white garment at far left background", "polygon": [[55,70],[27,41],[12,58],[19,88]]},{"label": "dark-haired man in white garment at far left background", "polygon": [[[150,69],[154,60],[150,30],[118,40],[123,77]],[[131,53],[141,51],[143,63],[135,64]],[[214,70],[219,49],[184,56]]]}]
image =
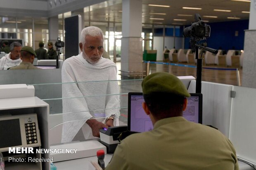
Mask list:
[{"label": "dark-haired man in white garment at far left background", "polygon": [[19,63],[21,63],[21,44],[19,42],[13,42],[10,45],[10,51],[11,52],[0,59],[0,70],[7,70],[8,68],[19,65]]}]

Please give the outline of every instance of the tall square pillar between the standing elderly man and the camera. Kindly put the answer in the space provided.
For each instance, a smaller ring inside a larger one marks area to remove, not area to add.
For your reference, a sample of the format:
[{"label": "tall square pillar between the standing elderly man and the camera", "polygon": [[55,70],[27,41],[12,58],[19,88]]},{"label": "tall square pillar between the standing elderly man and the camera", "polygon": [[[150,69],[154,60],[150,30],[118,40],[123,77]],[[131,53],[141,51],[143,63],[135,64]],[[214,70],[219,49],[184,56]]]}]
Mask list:
[{"label": "tall square pillar between the standing elderly man and the camera", "polygon": [[134,79],[143,75],[142,0],[123,0],[122,5],[121,76]]}]

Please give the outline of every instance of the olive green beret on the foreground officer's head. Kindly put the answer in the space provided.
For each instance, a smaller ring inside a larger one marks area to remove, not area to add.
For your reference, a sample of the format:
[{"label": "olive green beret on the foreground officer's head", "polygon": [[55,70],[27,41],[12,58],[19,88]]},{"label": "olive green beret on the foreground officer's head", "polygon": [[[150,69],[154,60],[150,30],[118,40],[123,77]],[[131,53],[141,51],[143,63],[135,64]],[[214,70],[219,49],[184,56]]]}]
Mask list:
[{"label": "olive green beret on the foreground officer's head", "polygon": [[167,72],[156,72],[146,76],[142,81],[143,94],[172,93],[183,97],[190,97],[187,88],[175,75]]}]

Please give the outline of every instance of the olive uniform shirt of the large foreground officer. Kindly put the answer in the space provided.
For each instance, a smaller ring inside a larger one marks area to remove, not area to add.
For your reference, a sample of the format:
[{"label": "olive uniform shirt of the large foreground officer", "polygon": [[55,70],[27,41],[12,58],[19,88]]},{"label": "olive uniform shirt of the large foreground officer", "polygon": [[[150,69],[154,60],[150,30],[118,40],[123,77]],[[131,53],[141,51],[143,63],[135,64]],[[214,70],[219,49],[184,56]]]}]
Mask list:
[{"label": "olive uniform shirt of the large foreground officer", "polygon": [[182,116],[126,137],[105,170],[238,170],[236,152],[220,131]]}]

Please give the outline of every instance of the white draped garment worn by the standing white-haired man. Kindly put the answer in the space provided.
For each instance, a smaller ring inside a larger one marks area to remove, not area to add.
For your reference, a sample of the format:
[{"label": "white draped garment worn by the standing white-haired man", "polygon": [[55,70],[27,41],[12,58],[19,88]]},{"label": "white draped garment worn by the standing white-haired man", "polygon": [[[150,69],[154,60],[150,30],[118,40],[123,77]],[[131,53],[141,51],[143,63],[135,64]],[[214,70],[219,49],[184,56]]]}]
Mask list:
[{"label": "white draped garment worn by the standing white-haired man", "polygon": [[[62,100],[63,122],[66,122],[63,123],[62,128],[62,142],[71,142],[82,126],[83,133],[85,128],[88,129],[86,134],[84,133],[85,139],[92,137],[92,130],[85,123],[91,117],[107,117],[115,114],[114,126],[119,125],[119,95],[109,95],[119,94],[117,81],[109,81],[116,80],[116,74],[116,64],[106,58],[101,57],[98,63],[91,64],[81,53],[64,61],[62,83],[82,83],[62,84],[62,98],[69,98]],[[102,96],[95,97],[95,95]],[[97,120],[105,121],[104,118]]]}]

